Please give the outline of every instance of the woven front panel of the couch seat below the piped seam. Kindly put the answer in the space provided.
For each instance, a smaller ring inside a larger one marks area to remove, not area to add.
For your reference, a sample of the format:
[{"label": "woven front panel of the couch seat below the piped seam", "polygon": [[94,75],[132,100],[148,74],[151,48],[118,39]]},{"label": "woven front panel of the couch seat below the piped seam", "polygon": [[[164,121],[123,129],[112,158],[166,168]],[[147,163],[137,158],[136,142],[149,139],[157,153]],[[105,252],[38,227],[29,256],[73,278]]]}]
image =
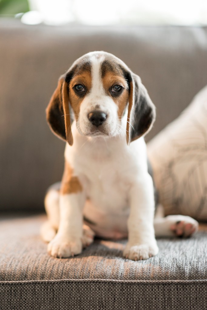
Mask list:
[{"label": "woven front panel of the couch seat below the piped seam", "polygon": [[2,310],[204,310],[207,281],[0,283]]}]

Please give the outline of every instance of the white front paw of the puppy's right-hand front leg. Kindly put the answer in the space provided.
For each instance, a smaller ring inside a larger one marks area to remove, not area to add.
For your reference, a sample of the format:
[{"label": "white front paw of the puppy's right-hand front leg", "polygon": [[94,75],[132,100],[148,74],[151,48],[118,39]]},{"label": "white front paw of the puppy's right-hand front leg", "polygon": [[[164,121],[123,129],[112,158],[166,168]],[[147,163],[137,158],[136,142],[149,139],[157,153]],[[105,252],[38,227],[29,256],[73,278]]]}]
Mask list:
[{"label": "white front paw of the puppy's right-hand front leg", "polygon": [[156,244],[134,244],[127,243],[123,256],[132,260],[148,259],[158,253]]}]

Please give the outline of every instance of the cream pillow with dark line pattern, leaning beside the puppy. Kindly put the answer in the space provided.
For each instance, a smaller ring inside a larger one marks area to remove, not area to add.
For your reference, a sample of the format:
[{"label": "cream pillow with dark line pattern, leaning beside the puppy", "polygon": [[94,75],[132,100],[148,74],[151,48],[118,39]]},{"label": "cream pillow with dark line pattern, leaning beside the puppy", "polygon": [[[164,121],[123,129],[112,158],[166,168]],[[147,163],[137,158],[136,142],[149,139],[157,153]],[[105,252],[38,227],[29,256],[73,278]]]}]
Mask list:
[{"label": "cream pillow with dark line pattern, leaning beside the puppy", "polygon": [[165,215],[207,221],[207,86],[148,143]]}]

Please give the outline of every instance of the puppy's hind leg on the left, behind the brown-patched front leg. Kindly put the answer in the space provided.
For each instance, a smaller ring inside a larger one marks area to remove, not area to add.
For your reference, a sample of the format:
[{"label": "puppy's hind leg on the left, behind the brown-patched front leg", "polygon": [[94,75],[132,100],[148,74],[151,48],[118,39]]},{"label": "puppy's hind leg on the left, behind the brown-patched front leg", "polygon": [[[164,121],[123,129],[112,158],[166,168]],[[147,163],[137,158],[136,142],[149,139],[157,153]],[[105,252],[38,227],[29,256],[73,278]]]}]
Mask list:
[{"label": "puppy's hind leg on the left, behind the brown-patched front leg", "polygon": [[55,237],[59,226],[59,188],[60,183],[53,184],[45,196],[48,220],[42,225],[40,234],[46,242],[50,242]]}]

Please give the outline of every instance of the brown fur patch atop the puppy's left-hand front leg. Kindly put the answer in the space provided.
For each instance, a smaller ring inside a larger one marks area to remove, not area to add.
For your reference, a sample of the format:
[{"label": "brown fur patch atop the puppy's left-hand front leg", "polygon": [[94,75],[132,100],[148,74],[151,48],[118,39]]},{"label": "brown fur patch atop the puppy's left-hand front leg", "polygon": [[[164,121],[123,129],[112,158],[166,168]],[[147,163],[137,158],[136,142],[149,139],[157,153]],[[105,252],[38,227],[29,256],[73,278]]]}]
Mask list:
[{"label": "brown fur patch atop the puppy's left-hand front leg", "polygon": [[63,178],[60,187],[60,194],[72,194],[82,191],[82,185],[77,176],[73,175],[73,169],[65,162]]}]

